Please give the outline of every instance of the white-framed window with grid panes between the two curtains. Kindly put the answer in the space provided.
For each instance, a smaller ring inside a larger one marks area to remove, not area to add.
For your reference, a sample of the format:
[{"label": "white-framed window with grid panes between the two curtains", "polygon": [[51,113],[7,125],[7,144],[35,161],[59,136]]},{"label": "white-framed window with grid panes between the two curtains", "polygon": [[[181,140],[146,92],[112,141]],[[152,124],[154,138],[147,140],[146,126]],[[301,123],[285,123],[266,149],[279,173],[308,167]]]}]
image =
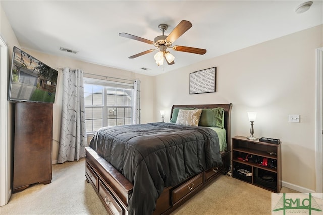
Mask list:
[{"label": "white-framed window with grid panes between the two curtains", "polygon": [[87,133],[132,124],[133,84],[84,78],[84,98]]}]

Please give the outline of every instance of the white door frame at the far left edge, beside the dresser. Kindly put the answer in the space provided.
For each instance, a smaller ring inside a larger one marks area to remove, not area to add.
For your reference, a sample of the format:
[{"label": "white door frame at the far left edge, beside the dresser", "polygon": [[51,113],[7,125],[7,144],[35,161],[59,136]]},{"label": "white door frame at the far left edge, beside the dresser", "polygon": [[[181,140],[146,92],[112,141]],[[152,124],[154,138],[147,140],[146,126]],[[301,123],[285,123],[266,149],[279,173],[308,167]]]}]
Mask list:
[{"label": "white door frame at the far left edge, beside the dresser", "polygon": [[10,169],[8,141],[8,47],[0,37],[0,206],[10,198]]}]

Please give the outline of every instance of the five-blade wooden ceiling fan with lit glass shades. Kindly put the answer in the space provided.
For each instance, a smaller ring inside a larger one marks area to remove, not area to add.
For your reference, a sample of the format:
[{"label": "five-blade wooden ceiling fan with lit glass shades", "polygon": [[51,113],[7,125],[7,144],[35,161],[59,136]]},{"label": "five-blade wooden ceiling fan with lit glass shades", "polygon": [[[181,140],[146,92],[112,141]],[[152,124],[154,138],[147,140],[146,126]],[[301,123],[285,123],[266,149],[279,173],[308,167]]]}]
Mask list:
[{"label": "five-blade wooden ceiling fan with lit glass shades", "polygon": [[175,42],[175,40],[177,40],[182,34],[184,34],[188,29],[190,29],[192,27],[192,23],[186,20],[182,20],[174,29],[173,31],[168,35],[164,35],[164,32],[167,30],[168,25],[167,24],[160,24],[158,25],[160,31],[162,32],[162,35],[157,36],[154,41],[151,40],[147,40],[141,37],[137,37],[131,34],[127,34],[127,33],[119,33],[119,36],[122,37],[127,37],[129,39],[133,39],[133,40],[138,40],[144,43],[148,43],[148,44],[152,44],[155,47],[157,47],[156,49],[150,49],[138,54],[135,54],[133,56],[130,56],[130,59],[136,58],[136,57],[140,57],[144,54],[148,54],[150,52],[153,52],[155,50],[159,50],[159,52],[157,52],[154,56],[156,63],[159,65],[163,65],[164,62],[164,58],[167,61],[167,64],[169,65],[173,65],[174,64],[174,56],[167,51],[167,48],[172,48],[174,51],[182,51],[182,52],[188,52],[188,53],[193,53],[193,54],[205,54],[206,53],[206,49],[201,49],[201,48],[192,48],[192,47],[187,47],[187,46],[172,46],[173,42]]}]

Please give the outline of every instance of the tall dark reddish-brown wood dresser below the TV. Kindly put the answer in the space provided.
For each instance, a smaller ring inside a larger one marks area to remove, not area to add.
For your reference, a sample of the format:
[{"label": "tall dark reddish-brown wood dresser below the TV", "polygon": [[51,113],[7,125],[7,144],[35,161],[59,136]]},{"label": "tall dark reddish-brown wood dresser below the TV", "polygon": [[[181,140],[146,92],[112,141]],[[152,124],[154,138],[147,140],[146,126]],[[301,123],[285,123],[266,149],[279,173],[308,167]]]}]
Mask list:
[{"label": "tall dark reddish-brown wood dresser below the TV", "polygon": [[52,116],[52,103],[16,103],[13,192],[51,183]]}]

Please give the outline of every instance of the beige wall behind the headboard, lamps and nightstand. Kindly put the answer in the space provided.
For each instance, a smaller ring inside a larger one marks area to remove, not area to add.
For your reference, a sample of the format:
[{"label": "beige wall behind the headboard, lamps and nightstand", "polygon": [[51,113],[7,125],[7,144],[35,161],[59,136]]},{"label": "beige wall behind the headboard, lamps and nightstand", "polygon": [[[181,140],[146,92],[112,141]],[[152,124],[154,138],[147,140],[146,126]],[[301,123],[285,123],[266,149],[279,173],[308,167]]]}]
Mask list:
[{"label": "beige wall behind the headboard, lamps and nightstand", "polygon": [[[254,135],[282,141],[284,185],[314,192],[315,49],[322,46],[320,25],[158,75],[154,121],[163,109],[169,120],[173,104],[233,103],[231,136],[248,136],[247,111],[256,111]],[[217,92],[190,95],[189,73],[210,67]],[[289,114],[300,114],[300,123],[288,122]]]}]

